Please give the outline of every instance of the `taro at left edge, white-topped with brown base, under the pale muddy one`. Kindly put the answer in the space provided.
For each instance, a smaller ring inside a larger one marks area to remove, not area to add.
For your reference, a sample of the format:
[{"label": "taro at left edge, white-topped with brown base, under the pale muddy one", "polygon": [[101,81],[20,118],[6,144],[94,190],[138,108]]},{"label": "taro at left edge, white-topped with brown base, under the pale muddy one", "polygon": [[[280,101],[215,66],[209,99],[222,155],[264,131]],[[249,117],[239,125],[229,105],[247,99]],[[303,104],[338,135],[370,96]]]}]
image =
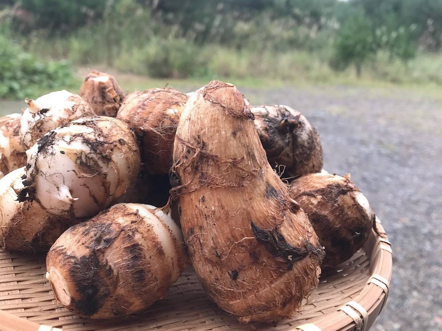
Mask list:
[{"label": "taro at left edge, white-topped with brown base, under the pale muddy one", "polygon": [[81,219],[54,216],[37,201],[20,202],[24,167],[0,180],[0,247],[47,251],[60,235]]}]

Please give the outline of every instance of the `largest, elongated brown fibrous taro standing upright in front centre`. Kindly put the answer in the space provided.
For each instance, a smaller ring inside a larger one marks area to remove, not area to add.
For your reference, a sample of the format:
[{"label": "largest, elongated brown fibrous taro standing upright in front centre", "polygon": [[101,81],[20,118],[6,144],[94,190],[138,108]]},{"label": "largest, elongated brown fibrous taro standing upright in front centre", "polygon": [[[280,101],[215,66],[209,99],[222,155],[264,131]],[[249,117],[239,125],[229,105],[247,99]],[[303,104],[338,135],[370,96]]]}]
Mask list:
[{"label": "largest, elongated brown fibrous taro standing upright in front centre", "polygon": [[170,175],[198,278],[241,322],[296,314],[323,255],[253,119],[235,86],[213,80],[199,89],[181,115]]}]

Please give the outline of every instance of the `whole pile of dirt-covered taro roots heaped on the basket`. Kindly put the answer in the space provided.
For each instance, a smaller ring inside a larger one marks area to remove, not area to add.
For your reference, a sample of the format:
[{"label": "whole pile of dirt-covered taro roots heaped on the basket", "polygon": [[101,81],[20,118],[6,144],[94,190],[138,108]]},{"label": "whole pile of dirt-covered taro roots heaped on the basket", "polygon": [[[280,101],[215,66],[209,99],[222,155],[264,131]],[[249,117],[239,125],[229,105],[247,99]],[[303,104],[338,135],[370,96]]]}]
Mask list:
[{"label": "whole pile of dirt-covered taro roots heaped on the basket", "polygon": [[192,264],[240,322],[292,317],[373,229],[350,175],[322,169],[305,116],[232,84],[126,95],[92,71],[79,94],[25,101],[0,129],[0,244],[47,252],[78,316],[146,310]]}]

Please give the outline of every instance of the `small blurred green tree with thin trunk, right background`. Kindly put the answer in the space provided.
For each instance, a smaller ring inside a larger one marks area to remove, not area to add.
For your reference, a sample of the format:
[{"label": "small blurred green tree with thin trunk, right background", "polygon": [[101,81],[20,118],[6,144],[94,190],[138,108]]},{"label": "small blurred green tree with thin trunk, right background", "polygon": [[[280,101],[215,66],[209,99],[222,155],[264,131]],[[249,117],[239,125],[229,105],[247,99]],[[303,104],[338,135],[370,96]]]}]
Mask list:
[{"label": "small blurred green tree with thin trunk, right background", "polygon": [[362,64],[376,53],[372,24],[362,11],[348,17],[340,26],[334,48],[331,67],[342,71],[354,64],[356,75],[360,77]]}]

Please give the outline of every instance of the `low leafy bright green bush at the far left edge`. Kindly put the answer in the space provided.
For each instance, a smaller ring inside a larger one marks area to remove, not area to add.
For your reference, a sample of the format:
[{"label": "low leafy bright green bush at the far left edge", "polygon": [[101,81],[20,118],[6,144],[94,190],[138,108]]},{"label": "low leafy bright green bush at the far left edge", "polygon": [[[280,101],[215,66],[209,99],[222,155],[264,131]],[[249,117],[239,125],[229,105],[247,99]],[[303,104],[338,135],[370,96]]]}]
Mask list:
[{"label": "low leafy bright green bush at the far left edge", "polygon": [[35,89],[57,89],[71,78],[66,61],[42,62],[0,33],[0,97],[23,99]]}]

